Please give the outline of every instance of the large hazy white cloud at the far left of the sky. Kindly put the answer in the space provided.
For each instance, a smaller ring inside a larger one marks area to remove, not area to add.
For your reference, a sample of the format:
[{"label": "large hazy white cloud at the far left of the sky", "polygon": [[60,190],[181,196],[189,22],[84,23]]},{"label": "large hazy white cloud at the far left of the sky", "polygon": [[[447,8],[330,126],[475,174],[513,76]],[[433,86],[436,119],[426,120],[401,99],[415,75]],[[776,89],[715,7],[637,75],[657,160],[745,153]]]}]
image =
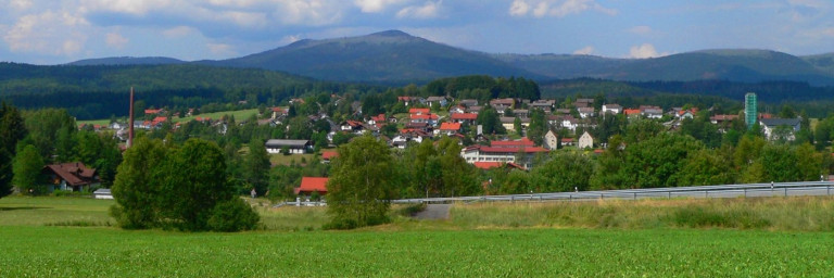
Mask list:
[{"label": "large hazy white cloud at the far left of the sky", "polygon": [[3,34],[3,40],[12,52],[70,55],[84,48],[88,26],[84,17],[47,11],[20,17]]}]

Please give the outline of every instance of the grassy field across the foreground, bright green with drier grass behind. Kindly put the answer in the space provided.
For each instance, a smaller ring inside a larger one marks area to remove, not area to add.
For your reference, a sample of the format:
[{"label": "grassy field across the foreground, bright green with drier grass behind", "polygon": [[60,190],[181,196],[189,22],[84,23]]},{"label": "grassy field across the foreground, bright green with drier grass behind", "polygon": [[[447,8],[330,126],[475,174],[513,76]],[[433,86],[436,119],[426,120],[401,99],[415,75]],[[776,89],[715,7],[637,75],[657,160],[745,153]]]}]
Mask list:
[{"label": "grassy field across the foreground, bright green with drier grass behind", "polygon": [[[608,215],[608,222],[635,214],[649,214],[637,223],[661,219],[659,212],[670,207],[733,212],[743,206],[794,206],[800,217],[832,218],[831,198],[457,204],[450,220],[397,217],[389,225],[353,231],[320,230],[327,220],[323,207],[267,208],[262,202],[266,201],[253,203],[262,204],[257,210],[266,230],[185,233],[78,227],[87,222],[112,223],[106,215],[112,201],[3,198],[0,277],[834,275],[834,232],[830,231],[589,224],[604,222],[593,220],[593,215]],[[822,215],[824,211],[831,213]],[[774,213],[762,213],[767,214]],[[565,220],[571,215],[576,219]],[[778,214],[768,219],[783,217],[793,216]]]}]

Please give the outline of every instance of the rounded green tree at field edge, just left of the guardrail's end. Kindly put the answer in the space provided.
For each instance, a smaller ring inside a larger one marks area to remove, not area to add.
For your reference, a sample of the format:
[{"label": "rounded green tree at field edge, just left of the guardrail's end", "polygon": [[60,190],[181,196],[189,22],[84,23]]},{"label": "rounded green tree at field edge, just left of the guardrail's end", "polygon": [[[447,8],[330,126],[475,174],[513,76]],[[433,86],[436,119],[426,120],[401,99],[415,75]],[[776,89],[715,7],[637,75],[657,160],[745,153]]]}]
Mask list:
[{"label": "rounded green tree at field edge, just left of the guardrail's end", "polygon": [[327,184],[330,228],[355,228],[387,223],[390,200],[396,197],[400,174],[384,142],[357,137],[339,147]]}]

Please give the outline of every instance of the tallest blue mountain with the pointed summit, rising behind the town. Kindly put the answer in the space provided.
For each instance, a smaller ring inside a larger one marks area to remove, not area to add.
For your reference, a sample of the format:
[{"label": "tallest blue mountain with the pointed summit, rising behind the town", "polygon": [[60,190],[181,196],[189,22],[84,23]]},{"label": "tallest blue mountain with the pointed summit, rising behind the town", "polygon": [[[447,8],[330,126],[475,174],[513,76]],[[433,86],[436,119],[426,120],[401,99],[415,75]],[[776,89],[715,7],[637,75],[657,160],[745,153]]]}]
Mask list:
[{"label": "tallest blue mountain with the pointed summit, rising behind the town", "polygon": [[490,55],[399,30],[362,37],[301,40],[213,65],[282,71],[318,79],[404,84],[460,75],[530,76]]}]

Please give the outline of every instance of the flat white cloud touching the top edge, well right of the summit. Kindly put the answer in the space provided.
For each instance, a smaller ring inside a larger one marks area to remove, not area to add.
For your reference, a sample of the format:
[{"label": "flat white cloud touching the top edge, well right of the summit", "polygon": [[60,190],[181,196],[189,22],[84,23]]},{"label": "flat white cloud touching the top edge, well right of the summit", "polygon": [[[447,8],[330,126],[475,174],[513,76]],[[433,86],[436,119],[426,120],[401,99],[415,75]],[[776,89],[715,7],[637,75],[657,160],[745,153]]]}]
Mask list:
[{"label": "flat white cloud touching the top edge, well right of the summit", "polygon": [[[535,7],[532,9],[532,13],[530,13],[530,7]],[[530,14],[534,17],[565,17],[589,10],[608,15],[618,13],[617,10],[605,8],[595,0],[514,0],[509,5],[509,15],[527,16]]]}]

